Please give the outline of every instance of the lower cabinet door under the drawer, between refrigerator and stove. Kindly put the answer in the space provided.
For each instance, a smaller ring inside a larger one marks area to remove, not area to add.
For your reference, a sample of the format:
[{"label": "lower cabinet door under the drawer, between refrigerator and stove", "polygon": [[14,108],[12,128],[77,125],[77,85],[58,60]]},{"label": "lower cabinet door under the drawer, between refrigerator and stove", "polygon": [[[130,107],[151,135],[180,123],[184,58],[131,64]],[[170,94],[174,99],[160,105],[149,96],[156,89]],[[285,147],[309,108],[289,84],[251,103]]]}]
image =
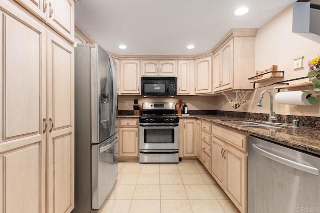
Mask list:
[{"label": "lower cabinet door under the drawer, between refrigerator and stove", "polygon": [[119,128],[119,156],[138,157],[138,128]]}]

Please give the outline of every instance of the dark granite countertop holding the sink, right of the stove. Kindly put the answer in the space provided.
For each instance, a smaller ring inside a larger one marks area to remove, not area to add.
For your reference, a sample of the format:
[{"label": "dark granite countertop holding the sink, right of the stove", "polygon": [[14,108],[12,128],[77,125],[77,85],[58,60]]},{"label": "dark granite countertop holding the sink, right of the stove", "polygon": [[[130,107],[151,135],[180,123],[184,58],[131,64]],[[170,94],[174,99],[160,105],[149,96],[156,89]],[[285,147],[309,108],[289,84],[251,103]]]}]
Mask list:
[{"label": "dark granite countertop holding the sink, right of the stove", "polygon": [[[254,121],[254,122],[261,122],[261,121],[250,120],[245,118],[235,118],[230,116],[189,115],[189,116],[179,116],[179,118],[202,119],[205,121],[209,121],[213,124],[237,129],[253,136],[264,138],[278,144],[283,144],[288,147],[292,147],[298,150],[302,150],[302,151],[313,153],[320,156],[320,129],[314,129],[314,128],[303,127],[303,126],[296,128],[296,127],[292,127],[289,124],[281,125],[280,127],[283,127],[283,129],[275,129],[275,130],[243,127],[235,124],[230,124],[225,121]],[[274,126],[277,126],[277,125],[274,125]]]}]

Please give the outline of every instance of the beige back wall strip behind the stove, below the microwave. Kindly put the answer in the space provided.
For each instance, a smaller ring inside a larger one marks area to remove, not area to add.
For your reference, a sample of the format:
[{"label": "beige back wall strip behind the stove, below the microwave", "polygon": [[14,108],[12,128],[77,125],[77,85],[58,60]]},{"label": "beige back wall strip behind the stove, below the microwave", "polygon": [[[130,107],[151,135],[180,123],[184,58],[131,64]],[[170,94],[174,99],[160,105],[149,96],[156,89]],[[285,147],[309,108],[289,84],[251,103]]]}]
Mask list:
[{"label": "beige back wall strip behind the stove, below the microwave", "polygon": [[142,102],[178,102],[182,99],[186,102],[189,110],[216,110],[215,96],[175,96],[174,98],[143,98],[141,96],[118,95],[118,110],[133,110],[133,99]]}]

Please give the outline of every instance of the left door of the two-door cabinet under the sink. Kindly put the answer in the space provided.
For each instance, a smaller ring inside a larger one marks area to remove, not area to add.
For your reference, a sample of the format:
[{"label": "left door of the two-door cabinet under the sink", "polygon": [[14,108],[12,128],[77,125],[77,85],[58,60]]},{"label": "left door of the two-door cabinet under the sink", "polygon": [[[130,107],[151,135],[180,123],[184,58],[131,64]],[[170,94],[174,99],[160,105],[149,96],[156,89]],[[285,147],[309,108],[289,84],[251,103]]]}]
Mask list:
[{"label": "left door of the two-door cabinet under the sink", "polygon": [[224,188],[224,143],[219,139],[216,139],[212,136],[212,157],[211,157],[211,175],[215,179],[215,181],[220,185],[220,187]]}]

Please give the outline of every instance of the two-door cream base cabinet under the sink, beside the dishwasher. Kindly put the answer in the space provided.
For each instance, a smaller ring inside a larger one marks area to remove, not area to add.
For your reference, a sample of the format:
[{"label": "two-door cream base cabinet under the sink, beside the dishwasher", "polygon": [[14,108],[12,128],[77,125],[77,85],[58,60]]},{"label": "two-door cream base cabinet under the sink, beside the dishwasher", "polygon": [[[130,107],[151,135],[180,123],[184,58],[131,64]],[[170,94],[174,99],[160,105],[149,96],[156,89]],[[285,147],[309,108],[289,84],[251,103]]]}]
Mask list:
[{"label": "two-door cream base cabinet under the sink, beside the dishwasher", "polygon": [[[224,129],[224,132],[219,129]],[[241,213],[246,213],[247,153],[239,151],[232,144],[239,144],[246,138],[246,135],[238,137],[239,135],[240,133],[232,130],[212,125],[211,175],[235,207]],[[232,140],[233,137],[236,137],[235,141]]]}]

